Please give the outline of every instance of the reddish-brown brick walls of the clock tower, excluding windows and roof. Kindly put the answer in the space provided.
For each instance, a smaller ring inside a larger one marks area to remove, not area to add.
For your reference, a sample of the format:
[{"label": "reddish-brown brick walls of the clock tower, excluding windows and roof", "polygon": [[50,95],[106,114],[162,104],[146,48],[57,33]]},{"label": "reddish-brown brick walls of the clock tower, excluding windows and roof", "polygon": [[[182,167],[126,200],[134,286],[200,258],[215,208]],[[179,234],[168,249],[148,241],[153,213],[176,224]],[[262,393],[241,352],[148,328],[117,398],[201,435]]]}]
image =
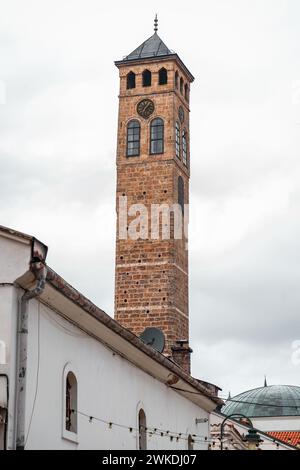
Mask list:
[{"label": "reddish-brown brick walls of the clock tower, excluding windows and roof", "polygon": [[[158,71],[168,70],[168,83],[158,84]],[[142,86],[142,72],[152,72],[152,85]],[[119,197],[126,196],[127,204],[144,204],[148,209],[149,235],[151,204],[178,202],[178,176],[184,180],[185,203],[189,200],[189,166],[175,156],[175,122],[178,108],[185,113],[181,129],[189,131],[189,105],[180,90],[175,89],[174,74],[188,78],[176,60],[153,60],[147,64],[122,65],[117,145],[117,242],[115,318],[126,328],[139,335],[146,327],[157,327],[166,336],[165,353],[172,354],[178,339],[189,338],[188,321],[188,251],[186,240],[121,240],[118,237]],[[136,74],[136,88],[126,89],[129,71]],[[151,99],[155,110],[149,119],[143,119],[136,107],[143,98]],[[161,117],[165,123],[164,153],[149,155],[150,122]],[[138,119],[141,125],[140,156],[126,157],[127,123]],[[189,150],[188,150],[189,161]],[[128,226],[136,216],[128,216]],[[172,218],[173,220],[173,218]],[[160,221],[162,229],[162,221]],[[161,232],[160,232],[161,233]],[[171,231],[171,234],[173,231]],[[189,370],[185,355],[184,366]],[[180,362],[180,361],[178,361]]]}]

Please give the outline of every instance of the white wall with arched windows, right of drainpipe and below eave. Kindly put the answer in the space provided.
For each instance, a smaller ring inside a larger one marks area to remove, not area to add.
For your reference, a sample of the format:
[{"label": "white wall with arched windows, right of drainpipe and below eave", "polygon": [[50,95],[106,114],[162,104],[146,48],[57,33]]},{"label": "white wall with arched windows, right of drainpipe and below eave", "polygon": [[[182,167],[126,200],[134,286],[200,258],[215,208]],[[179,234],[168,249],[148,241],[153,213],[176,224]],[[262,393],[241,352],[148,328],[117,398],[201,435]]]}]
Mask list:
[{"label": "white wall with arched windows, right of drainpipe and below eave", "polygon": [[[208,423],[195,424],[195,418],[207,418],[208,413],[37,300],[30,301],[29,311],[26,448],[137,448],[136,432],[116,427],[108,429],[106,424],[96,421],[91,424],[80,415],[78,445],[62,438],[62,376],[68,362],[77,375],[78,409],[82,412],[137,427],[138,407],[142,405],[148,427],[208,436]],[[160,436],[148,437],[147,440],[151,449],[187,449],[187,441],[171,442],[169,438]],[[195,443],[195,448],[207,448],[207,445]]]}]

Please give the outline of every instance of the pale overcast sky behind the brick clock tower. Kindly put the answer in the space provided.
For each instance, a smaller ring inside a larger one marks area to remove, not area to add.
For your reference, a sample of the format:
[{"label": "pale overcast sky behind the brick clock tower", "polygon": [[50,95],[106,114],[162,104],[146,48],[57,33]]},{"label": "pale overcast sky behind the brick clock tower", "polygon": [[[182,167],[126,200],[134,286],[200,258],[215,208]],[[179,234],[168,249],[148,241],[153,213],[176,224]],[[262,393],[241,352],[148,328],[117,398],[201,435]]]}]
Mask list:
[{"label": "pale overcast sky behind the brick clock tower", "polygon": [[[113,314],[118,70],[153,32],[191,91],[194,376],[300,385],[300,2],[0,2],[0,224]],[[6,90],[6,92],[5,92]],[[4,99],[5,98],[5,99]]]}]

